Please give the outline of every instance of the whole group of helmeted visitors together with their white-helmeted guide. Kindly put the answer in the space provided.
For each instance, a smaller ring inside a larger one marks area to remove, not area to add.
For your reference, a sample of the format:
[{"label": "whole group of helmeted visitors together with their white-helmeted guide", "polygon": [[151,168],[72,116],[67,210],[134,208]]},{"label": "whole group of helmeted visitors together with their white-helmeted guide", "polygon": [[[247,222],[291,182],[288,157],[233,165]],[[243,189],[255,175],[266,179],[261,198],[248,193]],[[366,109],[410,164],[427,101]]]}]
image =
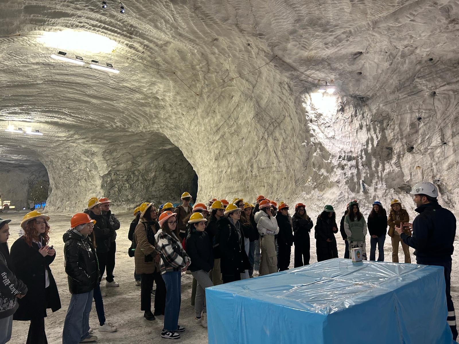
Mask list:
[{"label": "whole group of helmeted visitors together with their white-helmeted guide", "polygon": [[[447,321],[456,339],[450,295],[456,220],[450,211],[438,204],[434,184],[418,183],[412,194],[416,211],[420,213],[413,223],[409,222],[408,212],[398,200],[391,201],[389,215],[381,202],[375,201],[367,221],[360,212],[358,201],[349,202],[339,226],[346,243],[344,257],[348,258],[350,250],[359,247],[363,259],[367,259],[365,237],[368,231],[371,237],[369,259],[375,261],[378,246],[378,261],[384,261],[383,245],[389,227],[392,261],[398,262],[401,243],[405,262],[410,262],[409,247],[412,247],[418,264],[443,266]],[[287,270],[292,245],[295,246],[294,266],[309,264],[309,234],[314,224],[307,215],[305,204],[297,203],[293,216],[290,216],[289,205],[285,202],[278,205],[263,195],[257,197],[255,205],[235,198],[232,202],[212,199],[207,205],[196,203],[192,206],[192,197],[187,192],[181,199],[183,203],[175,208],[170,202],[158,209],[152,202],[142,203],[134,210],[135,218],[129,228],[132,245],[128,253],[134,256],[134,279],[136,285],[140,285],[140,309],[146,320],[164,316],[163,338],[180,338],[180,333],[185,331],[178,323],[182,272],[190,271],[193,276],[191,301],[196,323],[207,327],[207,287],[254,277],[256,270],[260,276]],[[101,209],[104,202],[110,204],[107,199],[90,199],[88,209],[72,217],[71,228],[64,234],[65,271],[72,294],[62,334],[62,342],[66,344],[97,339],[89,327],[93,298],[100,330],[104,327],[109,331],[113,329],[103,316],[99,285],[105,268],[106,285],[118,285],[113,279],[114,254],[111,250],[112,247],[116,250],[114,242],[119,222],[108,212],[109,206],[105,212]],[[8,249],[5,250],[10,220],[0,219],[0,243],[3,245],[0,274],[6,285],[0,283],[0,344],[9,339],[8,333],[11,336],[13,318],[31,320],[29,338],[34,339],[28,339],[28,343],[46,343],[43,321],[46,309],[56,311],[61,307],[49,268],[56,252],[47,245],[48,220],[48,216],[36,211],[24,216],[21,222],[24,233],[12,245],[10,257]],[[336,233],[335,210],[333,206],[325,205],[314,227],[318,261],[338,257]],[[30,259],[24,259],[28,255]],[[153,283],[156,283],[154,312],[151,311]],[[7,306],[2,308],[2,302]],[[30,312],[31,308],[27,307],[34,307],[34,311]]]}]

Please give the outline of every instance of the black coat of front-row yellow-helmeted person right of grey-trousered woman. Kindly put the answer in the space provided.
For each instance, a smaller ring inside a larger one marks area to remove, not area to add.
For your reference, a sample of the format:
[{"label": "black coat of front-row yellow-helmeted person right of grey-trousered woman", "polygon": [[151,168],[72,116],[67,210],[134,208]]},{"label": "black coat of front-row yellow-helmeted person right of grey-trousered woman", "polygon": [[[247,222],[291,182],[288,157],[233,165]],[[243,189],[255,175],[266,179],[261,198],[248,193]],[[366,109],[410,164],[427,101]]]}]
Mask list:
[{"label": "black coat of front-row yellow-helmeted person right of grey-trousered woman", "polygon": [[228,217],[222,216],[217,222],[220,243],[220,269],[222,274],[235,274],[250,268],[249,259],[244,245],[244,233],[241,229],[241,239],[236,227]]}]

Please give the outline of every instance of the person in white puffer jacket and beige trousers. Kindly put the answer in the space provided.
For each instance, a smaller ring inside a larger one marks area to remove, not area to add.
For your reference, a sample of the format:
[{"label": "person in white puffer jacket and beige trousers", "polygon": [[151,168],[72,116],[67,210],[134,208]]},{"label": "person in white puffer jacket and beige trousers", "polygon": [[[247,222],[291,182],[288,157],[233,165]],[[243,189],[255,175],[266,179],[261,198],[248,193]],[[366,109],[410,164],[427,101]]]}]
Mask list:
[{"label": "person in white puffer jacket and beige trousers", "polygon": [[260,211],[255,215],[257,230],[260,234],[260,276],[277,272],[277,256],[274,235],[279,233],[276,218],[271,212],[271,203],[262,200]]}]

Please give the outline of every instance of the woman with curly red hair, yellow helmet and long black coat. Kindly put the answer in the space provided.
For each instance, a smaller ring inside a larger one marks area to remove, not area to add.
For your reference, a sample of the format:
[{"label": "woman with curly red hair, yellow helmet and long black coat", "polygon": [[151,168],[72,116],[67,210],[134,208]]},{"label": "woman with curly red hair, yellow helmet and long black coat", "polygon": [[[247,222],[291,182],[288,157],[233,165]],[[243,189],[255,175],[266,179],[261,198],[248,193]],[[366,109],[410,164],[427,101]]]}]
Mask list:
[{"label": "woman with curly red hair, yellow helmet and long black coat", "polygon": [[46,309],[61,309],[61,300],[50,265],[56,251],[49,245],[50,217],[38,211],[27,213],[21,221],[22,235],[11,245],[11,263],[16,277],[28,293],[19,299],[13,319],[30,321],[27,344],[48,343],[45,333]]}]

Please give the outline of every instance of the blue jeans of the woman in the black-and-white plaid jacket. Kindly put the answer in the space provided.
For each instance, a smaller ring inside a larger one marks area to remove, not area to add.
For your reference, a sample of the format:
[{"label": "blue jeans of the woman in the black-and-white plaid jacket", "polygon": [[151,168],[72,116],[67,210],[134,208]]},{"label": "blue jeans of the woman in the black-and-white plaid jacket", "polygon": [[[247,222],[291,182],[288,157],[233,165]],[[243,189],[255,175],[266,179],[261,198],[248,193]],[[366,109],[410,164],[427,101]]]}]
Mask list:
[{"label": "blue jeans of the woman in the black-and-white plaid jacket", "polygon": [[166,309],[164,310],[164,329],[175,331],[179,327],[181,299],[181,272],[168,271],[162,274],[166,284]]}]

